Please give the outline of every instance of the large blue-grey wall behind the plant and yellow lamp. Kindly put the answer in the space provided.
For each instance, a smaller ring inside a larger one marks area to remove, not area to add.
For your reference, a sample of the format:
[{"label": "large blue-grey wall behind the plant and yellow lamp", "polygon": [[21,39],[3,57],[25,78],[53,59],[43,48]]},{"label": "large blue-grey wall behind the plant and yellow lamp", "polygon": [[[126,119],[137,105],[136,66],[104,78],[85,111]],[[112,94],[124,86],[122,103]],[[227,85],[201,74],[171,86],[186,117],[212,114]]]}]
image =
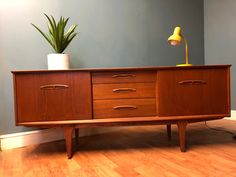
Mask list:
[{"label": "large blue-grey wall behind the plant and yellow lamp", "polygon": [[0,134],[15,127],[11,70],[46,69],[50,46],[30,25],[46,29],[43,13],[78,23],[79,36],[66,50],[72,68],[160,66],[184,62],[184,45],[167,38],[180,25],[190,62],[204,63],[203,0],[0,1]]}]

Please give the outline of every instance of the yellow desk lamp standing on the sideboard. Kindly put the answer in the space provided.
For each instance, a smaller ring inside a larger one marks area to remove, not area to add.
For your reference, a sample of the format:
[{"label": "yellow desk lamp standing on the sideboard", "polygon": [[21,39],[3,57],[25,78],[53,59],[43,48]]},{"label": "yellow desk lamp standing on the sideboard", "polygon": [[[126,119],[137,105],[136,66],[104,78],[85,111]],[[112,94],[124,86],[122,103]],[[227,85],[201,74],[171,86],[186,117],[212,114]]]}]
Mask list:
[{"label": "yellow desk lamp standing on the sideboard", "polygon": [[186,37],[183,34],[181,34],[180,27],[175,27],[174,33],[168,38],[168,42],[170,43],[170,45],[173,45],[173,46],[180,45],[182,38],[184,38],[184,42],[185,42],[186,63],[178,64],[176,66],[192,66],[192,64],[188,63],[188,42],[186,40]]}]

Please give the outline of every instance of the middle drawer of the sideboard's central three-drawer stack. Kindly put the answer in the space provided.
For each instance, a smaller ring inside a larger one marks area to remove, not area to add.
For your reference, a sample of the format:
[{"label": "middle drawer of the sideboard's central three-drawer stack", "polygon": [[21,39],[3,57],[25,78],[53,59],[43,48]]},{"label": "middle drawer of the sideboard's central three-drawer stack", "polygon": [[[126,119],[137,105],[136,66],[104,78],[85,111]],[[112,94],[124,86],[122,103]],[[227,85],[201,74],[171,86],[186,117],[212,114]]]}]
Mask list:
[{"label": "middle drawer of the sideboard's central three-drawer stack", "polygon": [[154,98],[155,83],[94,84],[93,99]]}]

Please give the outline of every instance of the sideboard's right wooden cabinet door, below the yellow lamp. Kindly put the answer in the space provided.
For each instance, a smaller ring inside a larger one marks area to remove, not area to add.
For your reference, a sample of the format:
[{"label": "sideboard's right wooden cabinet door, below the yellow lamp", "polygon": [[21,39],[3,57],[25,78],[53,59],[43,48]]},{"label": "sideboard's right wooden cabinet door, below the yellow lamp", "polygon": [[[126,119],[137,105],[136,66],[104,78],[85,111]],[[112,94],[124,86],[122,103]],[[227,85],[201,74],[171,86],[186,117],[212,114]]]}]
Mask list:
[{"label": "sideboard's right wooden cabinet door, below the yellow lamp", "polygon": [[159,116],[229,114],[229,69],[158,72]]}]

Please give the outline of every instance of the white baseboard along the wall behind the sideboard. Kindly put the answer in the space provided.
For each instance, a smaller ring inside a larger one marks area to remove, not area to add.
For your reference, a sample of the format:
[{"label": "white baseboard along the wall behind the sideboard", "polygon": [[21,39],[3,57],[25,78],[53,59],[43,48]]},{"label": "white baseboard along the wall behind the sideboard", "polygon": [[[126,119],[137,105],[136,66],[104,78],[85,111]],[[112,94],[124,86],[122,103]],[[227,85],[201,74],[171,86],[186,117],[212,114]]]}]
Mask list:
[{"label": "white baseboard along the wall behind the sideboard", "polygon": [[[224,119],[236,120],[236,110],[231,111],[231,117]],[[120,128],[99,128],[99,129],[81,129],[80,136],[89,136],[104,132],[114,131]],[[12,133],[0,135],[0,150],[14,149],[29,145],[47,143],[64,139],[62,128],[50,128],[43,130],[35,130],[29,132]]]}]

